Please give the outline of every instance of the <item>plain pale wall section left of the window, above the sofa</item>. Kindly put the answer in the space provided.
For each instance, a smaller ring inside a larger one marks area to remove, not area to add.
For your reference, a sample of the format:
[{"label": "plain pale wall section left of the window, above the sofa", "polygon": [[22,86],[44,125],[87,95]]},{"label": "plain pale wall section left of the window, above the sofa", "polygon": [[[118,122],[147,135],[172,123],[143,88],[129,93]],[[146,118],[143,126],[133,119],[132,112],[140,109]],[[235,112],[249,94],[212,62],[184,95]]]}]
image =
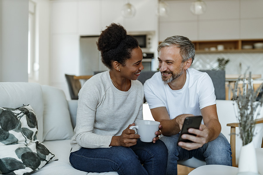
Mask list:
[{"label": "plain pale wall section left of the window, above the sofa", "polygon": [[0,81],[28,81],[28,0],[1,0]]}]

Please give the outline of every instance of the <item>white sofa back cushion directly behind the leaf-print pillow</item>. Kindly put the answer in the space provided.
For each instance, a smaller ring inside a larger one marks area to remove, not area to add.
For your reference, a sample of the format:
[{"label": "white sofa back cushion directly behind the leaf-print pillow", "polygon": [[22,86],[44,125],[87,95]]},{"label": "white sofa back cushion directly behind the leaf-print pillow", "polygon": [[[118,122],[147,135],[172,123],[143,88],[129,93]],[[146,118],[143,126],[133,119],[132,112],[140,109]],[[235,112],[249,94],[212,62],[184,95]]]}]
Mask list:
[{"label": "white sofa back cushion directly behind the leaf-print pillow", "polygon": [[26,82],[0,82],[0,107],[18,108],[30,104],[37,116],[37,139],[43,141],[43,95],[41,85]]}]

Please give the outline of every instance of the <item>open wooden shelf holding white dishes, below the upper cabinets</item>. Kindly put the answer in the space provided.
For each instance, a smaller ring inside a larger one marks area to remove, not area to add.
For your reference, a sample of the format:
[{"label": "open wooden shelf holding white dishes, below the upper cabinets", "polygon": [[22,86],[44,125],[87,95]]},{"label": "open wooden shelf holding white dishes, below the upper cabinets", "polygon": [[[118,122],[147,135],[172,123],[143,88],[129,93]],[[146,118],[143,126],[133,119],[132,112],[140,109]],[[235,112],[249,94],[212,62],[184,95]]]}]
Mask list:
[{"label": "open wooden shelf holding white dishes, below the upper cabinets", "polygon": [[[246,46],[253,47],[254,43],[259,43],[259,42],[263,42],[263,39],[193,41],[193,43],[195,45],[196,53],[263,52],[263,48],[262,49],[246,48]],[[224,49],[223,50],[217,50],[218,45],[224,45]]]}]

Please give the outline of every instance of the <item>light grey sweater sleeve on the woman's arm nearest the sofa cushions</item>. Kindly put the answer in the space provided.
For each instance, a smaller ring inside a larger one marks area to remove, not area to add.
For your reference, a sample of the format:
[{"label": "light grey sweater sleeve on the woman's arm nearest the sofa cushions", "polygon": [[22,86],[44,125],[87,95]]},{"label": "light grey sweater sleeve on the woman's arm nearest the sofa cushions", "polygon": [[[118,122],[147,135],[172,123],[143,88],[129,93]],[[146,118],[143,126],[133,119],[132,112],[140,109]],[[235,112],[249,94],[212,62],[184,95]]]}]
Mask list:
[{"label": "light grey sweater sleeve on the woman's arm nearest the sofa cushions", "polygon": [[77,121],[74,129],[76,141],[84,148],[109,148],[110,135],[94,134],[95,113],[101,92],[93,83],[86,82],[79,92],[79,102],[77,108]]}]

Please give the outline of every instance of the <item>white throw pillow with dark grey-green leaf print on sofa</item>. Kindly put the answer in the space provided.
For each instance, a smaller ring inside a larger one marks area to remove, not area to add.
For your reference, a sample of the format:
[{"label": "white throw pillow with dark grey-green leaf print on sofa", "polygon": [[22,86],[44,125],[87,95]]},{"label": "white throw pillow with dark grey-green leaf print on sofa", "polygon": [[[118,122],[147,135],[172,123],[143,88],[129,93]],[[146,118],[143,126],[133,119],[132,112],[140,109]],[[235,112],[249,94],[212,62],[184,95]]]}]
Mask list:
[{"label": "white throw pillow with dark grey-green leaf print on sofa", "polygon": [[3,174],[31,174],[57,160],[37,140],[37,118],[30,105],[0,108],[0,171]]}]

